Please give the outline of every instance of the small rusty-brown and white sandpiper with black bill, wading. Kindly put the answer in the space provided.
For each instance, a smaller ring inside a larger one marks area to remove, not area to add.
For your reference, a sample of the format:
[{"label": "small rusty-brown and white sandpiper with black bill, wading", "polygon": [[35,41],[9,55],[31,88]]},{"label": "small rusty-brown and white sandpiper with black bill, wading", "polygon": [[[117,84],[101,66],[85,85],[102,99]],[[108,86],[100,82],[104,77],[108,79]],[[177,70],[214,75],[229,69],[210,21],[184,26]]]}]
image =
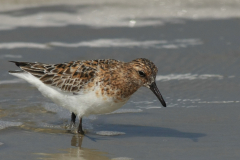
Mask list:
[{"label": "small rusty-brown and white sandpiper with black bill, wading", "polygon": [[33,84],[53,102],[72,112],[74,125],[76,115],[82,130],[82,117],[90,114],[110,113],[122,107],[141,86],[153,91],[166,107],[155,78],[157,67],[145,58],[131,62],[113,59],[78,60],[61,64],[16,62],[20,71],[9,71]]}]

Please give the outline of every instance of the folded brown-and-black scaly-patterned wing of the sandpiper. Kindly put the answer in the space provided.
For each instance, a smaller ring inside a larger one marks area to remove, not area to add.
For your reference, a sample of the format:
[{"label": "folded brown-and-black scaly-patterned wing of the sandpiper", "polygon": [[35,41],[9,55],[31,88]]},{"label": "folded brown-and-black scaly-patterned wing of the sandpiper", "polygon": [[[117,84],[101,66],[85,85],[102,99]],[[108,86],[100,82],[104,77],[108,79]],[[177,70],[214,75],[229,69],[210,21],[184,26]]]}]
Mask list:
[{"label": "folded brown-and-black scaly-patterned wing of the sandpiper", "polygon": [[98,60],[71,61],[61,64],[14,62],[22,70],[31,73],[43,83],[67,92],[78,92],[92,82],[97,74]]}]

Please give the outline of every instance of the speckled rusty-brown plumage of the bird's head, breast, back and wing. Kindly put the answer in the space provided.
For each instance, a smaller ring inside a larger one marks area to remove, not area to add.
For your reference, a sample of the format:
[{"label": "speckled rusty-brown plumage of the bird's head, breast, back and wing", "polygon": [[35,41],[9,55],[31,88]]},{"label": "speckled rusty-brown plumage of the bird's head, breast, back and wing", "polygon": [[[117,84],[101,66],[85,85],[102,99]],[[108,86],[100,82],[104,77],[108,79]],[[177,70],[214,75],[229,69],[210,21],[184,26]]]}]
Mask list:
[{"label": "speckled rusty-brown plumage of the bird's head, breast, back and wing", "polygon": [[[121,101],[130,97],[145,83],[152,83],[157,67],[148,59],[139,58],[125,63],[113,59],[71,61],[60,64],[15,62],[43,83],[64,92],[78,93],[99,86],[98,96],[115,97]],[[146,75],[140,77],[138,71]]]}]

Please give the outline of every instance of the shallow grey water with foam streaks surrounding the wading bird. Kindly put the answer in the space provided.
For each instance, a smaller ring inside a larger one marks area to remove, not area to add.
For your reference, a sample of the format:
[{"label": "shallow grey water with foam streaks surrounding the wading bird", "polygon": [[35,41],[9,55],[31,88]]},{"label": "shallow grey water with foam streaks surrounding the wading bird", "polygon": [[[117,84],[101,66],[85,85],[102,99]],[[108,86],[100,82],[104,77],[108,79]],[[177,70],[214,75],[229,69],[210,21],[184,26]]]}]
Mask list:
[{"label": "shallow grey water with foam streaks surrounding the wading bird", "polygon": [[[0,3],[1,159],[240,158],[240,1]],[[85,136],[7,72],[17,69],[8,60],[139,57],[157,65],[167,108],[141,88],[121,109],[85,117]]]}]

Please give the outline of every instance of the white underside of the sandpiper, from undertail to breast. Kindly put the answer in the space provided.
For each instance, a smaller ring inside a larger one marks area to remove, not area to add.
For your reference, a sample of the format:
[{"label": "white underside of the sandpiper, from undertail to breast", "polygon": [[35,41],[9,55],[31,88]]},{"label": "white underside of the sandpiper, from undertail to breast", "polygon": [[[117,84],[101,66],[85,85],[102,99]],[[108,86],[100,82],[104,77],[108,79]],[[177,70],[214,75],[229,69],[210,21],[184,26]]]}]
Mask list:
[{"label": "white underside of the sandpiper, from undertail to breast", "polygon": [[116,103],[112,97],[97,97],[96,90],[99,88],[87,93],[74,95],[73,93],[63,92],[58,88],[45,85],[29,73],[12,73],[12,75],[23,78],[33,84],[45,97],[50,98],[59,106],[74,112],[79,117],[113,112],[122,107],[128,100]]}]

